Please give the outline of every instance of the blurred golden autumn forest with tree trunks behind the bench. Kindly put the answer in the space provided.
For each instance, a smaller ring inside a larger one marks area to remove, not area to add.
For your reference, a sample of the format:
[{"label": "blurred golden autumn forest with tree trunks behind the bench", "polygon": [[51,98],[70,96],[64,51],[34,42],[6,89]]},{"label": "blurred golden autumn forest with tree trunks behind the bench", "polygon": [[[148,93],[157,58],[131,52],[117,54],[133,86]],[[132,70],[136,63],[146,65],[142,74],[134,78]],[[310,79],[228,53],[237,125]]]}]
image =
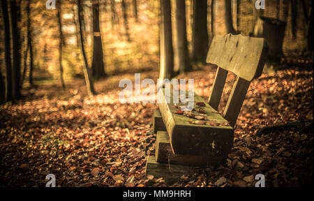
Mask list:
[{"label": "blurred golden autumn forest with tree trunks behind the bench", "polygon": [[[204,60],[209,47],[206,41],[210,43],[214,34],[249,36],[253,33],[257,17],[272,17],[286,23],[283,38],[285,57],[302,59],[308,55],[306,51],[311,49],[308,43],[313,40],[309,38],[313,37],[313,32],[310,33],[313,30],[312,1],[265,1],[264,10],[255,9],[255,1],[252,0],[203,0],[196,3],[186,0],[185,5],[177,5],[176,2],[183,1],[172,0],[170,11],[172,40],[169,41],[174,44],[174,75],[190,69],[188,66],[179,70],[178,66],[190,63],[180,63],[178,54],[190,54],[190,60],[194,61],[192,67],[195,68],[197,61]],[[67,82],[84,77],[84,66],[91,68],[91,74],[96,80],[126,71],[158,70],[162,24],[160,3],[165,8],[170,6],[170,1],[157,0],[71,0],[57,1],[57,9],[48,10],[46,1],[2,1],[1,101],[5,99],[3,91],[6,91],[7,82],[12,82],[9,84],[12,89],[8,89],[13,90],[12,96],[20,96],[20,88],[33,84],[60,83],[66,87]],[[205,7],[207,10],[204,10]],[[78,12],[79,9],[81,12]],[[185,27],[176,27],[180,20],[176,16],[183,11],[186,15],[185,19],[182,18],[186,21],[186,36],[182,39],[176,30]],[[78,13],[81,13],[81,18]],[[167,15],[167,10],[165,13]],[[232,19],[231,27],[226,20],[229,16]],[[208,29],[207,33],[204,29]],[[176,48],[176,41],[184,41],[184,38],[187,40],[188,53],[177,53],[180,50]],[[81,40],[86,55],[82,54]],[[197,45],[199,42],[193,42],[195,40],[202,41],[200,43],[203,45]],[[9,51],[8,60],[6,51]],[[200,58],[195,55],[200,55]],[[8,77],[12,77],[11,81]],[[8,96],[11,96],[10,93]]]}]

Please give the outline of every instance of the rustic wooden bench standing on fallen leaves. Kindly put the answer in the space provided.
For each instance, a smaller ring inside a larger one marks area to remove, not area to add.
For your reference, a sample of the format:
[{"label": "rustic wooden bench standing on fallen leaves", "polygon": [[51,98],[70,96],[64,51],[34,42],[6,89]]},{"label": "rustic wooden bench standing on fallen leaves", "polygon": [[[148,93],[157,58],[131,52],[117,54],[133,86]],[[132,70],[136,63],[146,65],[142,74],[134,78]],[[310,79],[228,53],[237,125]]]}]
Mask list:
[{"label": "rustic wooden bench standing on fallen leaves", "polygon": [[[214,36],[207,63],[218,68],[209,101],[207,103],[194,94],[195,111],[184,113],[188,115],[181,114],[177,105],[172,103],[172,94],[170,103],[158,103],[161,117],[158,112],[154,113],[154,133],[157,134],[155,158],[150,156],[147,159],[147,174],[174,181],[184,172],[180,168],[190,170],[190,166],[204,167],[224,161],[232,148],[234,125],[248,87],[261,75],[267,54],[268,45],[264,38],[232,34]],[[220,115],[217,110],[228,71],[237,75],[237,79],[223,115]],[[165,98],[164,89],[160,94]],[[160,119],[163,119],[161,126]],[[175,171],[166,170],[170,164],[172,168],[176,167]]]}]

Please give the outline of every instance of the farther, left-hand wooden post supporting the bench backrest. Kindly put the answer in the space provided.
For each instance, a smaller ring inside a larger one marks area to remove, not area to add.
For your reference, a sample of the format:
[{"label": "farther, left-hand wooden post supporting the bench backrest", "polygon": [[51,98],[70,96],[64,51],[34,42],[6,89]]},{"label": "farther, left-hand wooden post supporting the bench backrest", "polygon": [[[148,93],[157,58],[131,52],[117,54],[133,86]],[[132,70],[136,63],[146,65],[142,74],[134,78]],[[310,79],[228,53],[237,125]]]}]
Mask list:
[{"label": "farther, left-hand wooden post supporting the bench backrest", "polygon": [[223,94],[223,87],[225,87],[225,78],[227,77],[228,71],[223,68],[217,68],[214,85],[211,90],[211,96],[209,97],[209,105],[215,110],[218,110],[220,103],[221,94]]}]

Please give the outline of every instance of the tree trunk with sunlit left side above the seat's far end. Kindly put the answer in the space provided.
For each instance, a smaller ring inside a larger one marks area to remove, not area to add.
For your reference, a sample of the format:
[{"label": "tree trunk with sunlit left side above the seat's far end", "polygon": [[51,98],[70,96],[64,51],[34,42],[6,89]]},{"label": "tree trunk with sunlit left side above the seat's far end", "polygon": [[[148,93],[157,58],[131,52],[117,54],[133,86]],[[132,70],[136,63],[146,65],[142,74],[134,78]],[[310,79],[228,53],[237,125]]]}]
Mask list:
[{"label": "tree trunk with sunlit left side above the seat's far end", "polygon": [[160,73],[159,78],[172,78],[173,70],[173,47],[170,0],[160,0],[161,24],[160,24]]}]

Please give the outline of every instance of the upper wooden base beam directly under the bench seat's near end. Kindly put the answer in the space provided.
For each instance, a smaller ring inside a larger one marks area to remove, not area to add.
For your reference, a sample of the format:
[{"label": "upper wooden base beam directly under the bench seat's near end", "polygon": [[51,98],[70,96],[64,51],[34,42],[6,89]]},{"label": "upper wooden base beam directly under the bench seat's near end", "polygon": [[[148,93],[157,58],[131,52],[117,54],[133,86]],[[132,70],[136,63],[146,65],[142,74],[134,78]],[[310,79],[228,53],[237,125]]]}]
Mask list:
[{"label": "upper wooden base beam directly under the bench seat's near end", "polygon": [[225,159],[215,156],[204,157],[173,154],[170,145],[170,138],[166,131],[157,132],[155,158],[158,163],[192,165],[200,167],[207,167],[208,165],[212,165],[214,163],[220,163],[223,159]]}]

